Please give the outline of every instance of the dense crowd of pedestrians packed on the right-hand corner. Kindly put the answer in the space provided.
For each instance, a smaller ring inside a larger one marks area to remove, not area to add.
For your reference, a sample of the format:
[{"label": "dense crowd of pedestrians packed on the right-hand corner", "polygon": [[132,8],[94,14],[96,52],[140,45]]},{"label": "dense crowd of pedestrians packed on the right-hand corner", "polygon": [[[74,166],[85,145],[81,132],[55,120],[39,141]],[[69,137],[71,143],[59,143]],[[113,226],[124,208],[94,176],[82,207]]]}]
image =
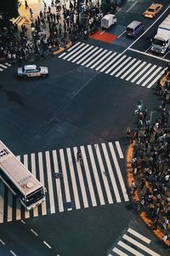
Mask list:
[{"label": "dense crowd of pedestrians packed on the right-hand corner", "polygon": [[[159,81],[158,81],[159,82]],[[169,98],[167,89],[158,90],[161,107],[153,124],[143,114],[143,124],[135,131],[136,140],[132,169],[134,180],[131,193],[139,194],[139,208],[146,212],[152,230],[161,230],[164,242],[170,240],[170,126],[168,125]],[[145,113],[145,110],[144,110]],[[131,141],[132,142],[132,141]]]}]

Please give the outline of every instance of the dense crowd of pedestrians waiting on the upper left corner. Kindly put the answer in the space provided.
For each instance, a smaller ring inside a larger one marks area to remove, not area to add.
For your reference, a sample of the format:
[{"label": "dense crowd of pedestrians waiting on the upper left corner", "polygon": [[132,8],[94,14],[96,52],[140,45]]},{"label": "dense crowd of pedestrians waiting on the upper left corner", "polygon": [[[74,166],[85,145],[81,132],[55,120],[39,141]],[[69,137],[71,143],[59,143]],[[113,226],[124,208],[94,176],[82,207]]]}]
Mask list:
[{"label": "dense crowd of pedestrians waiting on the upper left corner", "polygon": [[28,39],[29,27],[22,25],[19,32],[16,24],[11,26],[1,33],[0,56],[5,56],[9,62],[22,62],[31,55],[45,57],[69,41],[87,39],[88,34],[95,31],[102,13],[99,6],[86,3],[80,20],[76,0],[70,1],[69,9],[60,0],[52,0],[50,6],[43,2],[37,17],[25,1],[25,9],[29,10],[31,18],[31,39]]}]

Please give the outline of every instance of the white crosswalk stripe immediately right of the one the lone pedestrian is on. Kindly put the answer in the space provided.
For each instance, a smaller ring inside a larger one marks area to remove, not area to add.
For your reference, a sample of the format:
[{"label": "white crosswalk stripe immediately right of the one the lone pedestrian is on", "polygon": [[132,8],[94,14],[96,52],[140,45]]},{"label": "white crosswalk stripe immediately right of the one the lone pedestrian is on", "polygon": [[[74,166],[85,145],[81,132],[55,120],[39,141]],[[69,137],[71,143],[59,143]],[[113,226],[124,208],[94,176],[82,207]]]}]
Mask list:
[{"label": "white crosswalk stripe immediately right of the one the lone pedestrian is on", "polygon": [[83,160],[83,164],[84,164],[84,169],[86,171],[86,177],[87,177],[87,181],[88,181],[88,189],[89,189],[92,205],[93,205],[93,207],[96,207],[97,202],[96,202],[96,198],[94,195],[94,187],[93,187],[92,179],[91,179],[89,168],[88,168],[88,160],[86,157],[84,147],[81,146],[80,148],[81,148],[81,152],[82,152],[82,160]]}]

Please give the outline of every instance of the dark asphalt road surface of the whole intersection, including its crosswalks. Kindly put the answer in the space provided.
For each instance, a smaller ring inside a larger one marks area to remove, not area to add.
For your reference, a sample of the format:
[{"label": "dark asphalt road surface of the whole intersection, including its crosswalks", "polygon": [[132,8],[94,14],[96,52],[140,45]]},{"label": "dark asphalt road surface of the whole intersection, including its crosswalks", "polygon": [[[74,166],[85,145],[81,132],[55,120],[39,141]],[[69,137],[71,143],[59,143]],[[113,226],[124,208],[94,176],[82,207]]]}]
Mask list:
[{"label": "dark asphalt road surface of the whole intersection, including its crosswalks", "polygon": [[[160,2],[166,10],[167,1]],[[150,3],[127,1],[110,32],[121,35],[134,15],[149,28],[162,15],[145,20]],[[140,220],[126,178],[126,128],[136,125],[137,101],[149,119],[158,105],[156,80],[169,54],[156,58],[145,50],[167,14],[139,39],[88,39],[36,61],[48,67],[48,78],[18,79],[17,65],[0,73],[1,140],[38,178],[42,173],[48,189],[44,207],[25,212],[0,184],[0,255],[169,254]]]}]

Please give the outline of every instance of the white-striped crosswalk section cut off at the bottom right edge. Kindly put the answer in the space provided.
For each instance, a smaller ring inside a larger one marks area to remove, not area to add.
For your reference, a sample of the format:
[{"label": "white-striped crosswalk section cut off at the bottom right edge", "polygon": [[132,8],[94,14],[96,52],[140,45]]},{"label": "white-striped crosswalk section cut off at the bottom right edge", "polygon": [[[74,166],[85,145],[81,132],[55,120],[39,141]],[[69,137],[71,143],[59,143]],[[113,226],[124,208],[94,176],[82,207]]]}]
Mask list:
[{"label": "white-striped crosswalk section cut off at the bottom right edge", "polygon": [[116,247],[112,249],[108,256],[128,256],[131,253],[136,256],[144,256],[146,254],[151,256],[161,256],[151,250],[149,245],[150,239],[129,228],[127,234],[122,236],[122,240],[117,242]]}]

